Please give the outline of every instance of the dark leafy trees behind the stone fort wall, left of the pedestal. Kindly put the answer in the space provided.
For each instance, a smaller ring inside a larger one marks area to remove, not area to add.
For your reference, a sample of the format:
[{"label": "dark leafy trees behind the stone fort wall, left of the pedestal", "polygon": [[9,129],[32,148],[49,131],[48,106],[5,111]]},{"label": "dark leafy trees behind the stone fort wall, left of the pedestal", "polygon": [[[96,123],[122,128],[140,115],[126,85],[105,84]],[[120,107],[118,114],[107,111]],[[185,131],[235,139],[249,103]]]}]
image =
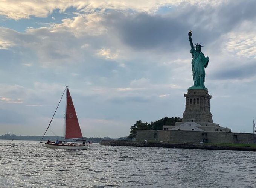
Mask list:
[{"label": "dark leafy trees behind the stone fort wall, left of the pedestal", "polygon": [[163,125],[175,125],[176,122],[180,121],[182,121],[182,118],[180,117],[165,117],[151,123],[143,123],[142,120],[139,120],[133,126],[131,126],[131,131],[128,138],[131,139],[136,137],[137,130],[162,130]]}]

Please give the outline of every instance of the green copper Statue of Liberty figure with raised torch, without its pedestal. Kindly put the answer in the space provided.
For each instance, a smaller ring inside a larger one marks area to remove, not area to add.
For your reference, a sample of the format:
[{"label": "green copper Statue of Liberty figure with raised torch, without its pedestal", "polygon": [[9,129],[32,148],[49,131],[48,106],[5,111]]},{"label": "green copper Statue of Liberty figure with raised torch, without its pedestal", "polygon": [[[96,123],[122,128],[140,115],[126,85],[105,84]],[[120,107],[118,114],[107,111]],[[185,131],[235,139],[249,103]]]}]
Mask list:
[{"label": "green copper Statue of Liberty figure with raised torch, without its pedestal", "polygon": [[[209,57],[205,57],[204,54],[201,52],[200,44],[193,45],[192,42],[192,31],[189,31],[189,42],[191,46],[190,53],[192,53],[192,71],[193,71],[193,80],[194,85],[189,89],[205,89],[207,88],[204,86],[204,78],[205,78],[205,71],[204,68],[208,66]],[[195,48],[194,48],[195,47]]]}]

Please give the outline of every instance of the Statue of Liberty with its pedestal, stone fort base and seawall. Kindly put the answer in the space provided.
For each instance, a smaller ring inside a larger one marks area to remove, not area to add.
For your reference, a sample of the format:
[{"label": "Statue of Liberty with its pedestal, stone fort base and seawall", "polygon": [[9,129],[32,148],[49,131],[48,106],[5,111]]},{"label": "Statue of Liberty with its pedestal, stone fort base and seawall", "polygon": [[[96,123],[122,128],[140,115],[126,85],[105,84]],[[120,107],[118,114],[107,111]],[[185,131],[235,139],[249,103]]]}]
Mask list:
[{"label": "Statue of Liberty with its pedestal, stone fort base and seawall", "polygon": [[235,133],[229,127],[213,122],[210,112],[212,96],[204,85],[204,69],[208,66],[209,57],[201,52],[201,43],[193,45],[192,31],[189,31],[188,36],[194,84],[184,94],[186,103],[182,121],[175,125],[163,125],[162,130],[137,130],[133,142],[103,141],[102,145],[256,151],[255,134]]}]

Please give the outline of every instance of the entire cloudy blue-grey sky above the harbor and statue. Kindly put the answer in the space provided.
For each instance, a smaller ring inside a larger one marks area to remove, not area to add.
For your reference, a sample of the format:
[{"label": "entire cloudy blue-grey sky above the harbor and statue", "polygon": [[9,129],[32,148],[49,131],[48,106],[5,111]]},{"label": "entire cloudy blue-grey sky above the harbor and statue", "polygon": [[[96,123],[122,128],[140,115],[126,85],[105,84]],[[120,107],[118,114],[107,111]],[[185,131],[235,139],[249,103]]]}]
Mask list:
[{"label": "entire cloudy blue-grey sky above the harbor and statue", "polygon": [[[253,132],[256,1],[0,0],[0,135],[43,135],[69,86],[85,137],[182,117],[188,32],[209,56],[213,122]],[[64,105],[47,135],[63,135]]]}]

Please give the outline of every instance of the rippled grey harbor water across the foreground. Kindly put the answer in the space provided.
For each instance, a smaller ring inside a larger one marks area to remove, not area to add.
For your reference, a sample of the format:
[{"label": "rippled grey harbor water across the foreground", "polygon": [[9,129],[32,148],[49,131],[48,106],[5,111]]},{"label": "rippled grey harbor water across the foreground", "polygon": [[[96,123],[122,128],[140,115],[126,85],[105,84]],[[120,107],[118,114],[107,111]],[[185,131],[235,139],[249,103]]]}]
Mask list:
[{"label": "rippled grey harbor water across the foreground", "polygon": [[255,188],[256,152],[0,140],[0,187]]}]

